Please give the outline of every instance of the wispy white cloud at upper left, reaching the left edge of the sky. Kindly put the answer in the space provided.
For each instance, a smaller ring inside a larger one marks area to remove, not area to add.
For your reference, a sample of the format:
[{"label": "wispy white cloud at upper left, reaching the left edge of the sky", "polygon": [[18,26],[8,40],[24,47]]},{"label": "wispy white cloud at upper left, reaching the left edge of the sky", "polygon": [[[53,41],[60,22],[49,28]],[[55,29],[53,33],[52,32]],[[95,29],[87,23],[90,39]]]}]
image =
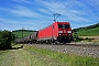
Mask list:
[{"label": "wispy white cloud at upper left, reaching the left edge of the sky", "polygon": [[41,18],[42,16],[40,13],[34,12],[28,9],[26,7],[19,6],[19,4],[13,7],[12,9],[0,8],[0,10],[10,12],[16,16],[26,16],[26,18]]}]

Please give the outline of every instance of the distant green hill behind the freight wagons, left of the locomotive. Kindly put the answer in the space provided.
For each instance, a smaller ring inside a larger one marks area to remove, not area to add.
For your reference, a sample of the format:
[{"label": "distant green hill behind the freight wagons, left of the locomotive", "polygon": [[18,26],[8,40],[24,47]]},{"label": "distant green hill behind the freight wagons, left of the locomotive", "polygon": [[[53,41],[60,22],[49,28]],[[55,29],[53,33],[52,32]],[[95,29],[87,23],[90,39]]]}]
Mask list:
[{"label": "distant green hill behind the freight wagons, left of the locomotive", "polygon": [[21,38],[22,37],[22,32],[23,32],[23,37],[25,37],[25,36],[32,34],[35,31],[31,31],[31,30],[16,30],[16,31],[12,31],[12,32],[15,34],[15,36],[18,38]]}]

